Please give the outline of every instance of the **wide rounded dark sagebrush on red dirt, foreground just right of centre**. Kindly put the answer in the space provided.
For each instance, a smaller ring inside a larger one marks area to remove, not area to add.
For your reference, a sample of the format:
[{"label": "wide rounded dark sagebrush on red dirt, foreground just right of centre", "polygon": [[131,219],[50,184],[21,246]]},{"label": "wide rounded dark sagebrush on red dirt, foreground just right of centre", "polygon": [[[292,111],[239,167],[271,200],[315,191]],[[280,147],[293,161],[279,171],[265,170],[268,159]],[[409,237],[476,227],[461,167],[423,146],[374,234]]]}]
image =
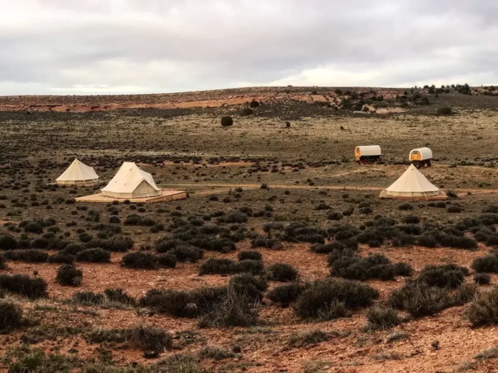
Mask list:
[{"label": "wide rounded dark sagebrush on red dirt, foreground just right of centre", "polygon": [[297,298],[294,312],[303,319],[331,320],[348,310],[367,307],[379,293],[373,287],[351,280],[318,280]]}]

